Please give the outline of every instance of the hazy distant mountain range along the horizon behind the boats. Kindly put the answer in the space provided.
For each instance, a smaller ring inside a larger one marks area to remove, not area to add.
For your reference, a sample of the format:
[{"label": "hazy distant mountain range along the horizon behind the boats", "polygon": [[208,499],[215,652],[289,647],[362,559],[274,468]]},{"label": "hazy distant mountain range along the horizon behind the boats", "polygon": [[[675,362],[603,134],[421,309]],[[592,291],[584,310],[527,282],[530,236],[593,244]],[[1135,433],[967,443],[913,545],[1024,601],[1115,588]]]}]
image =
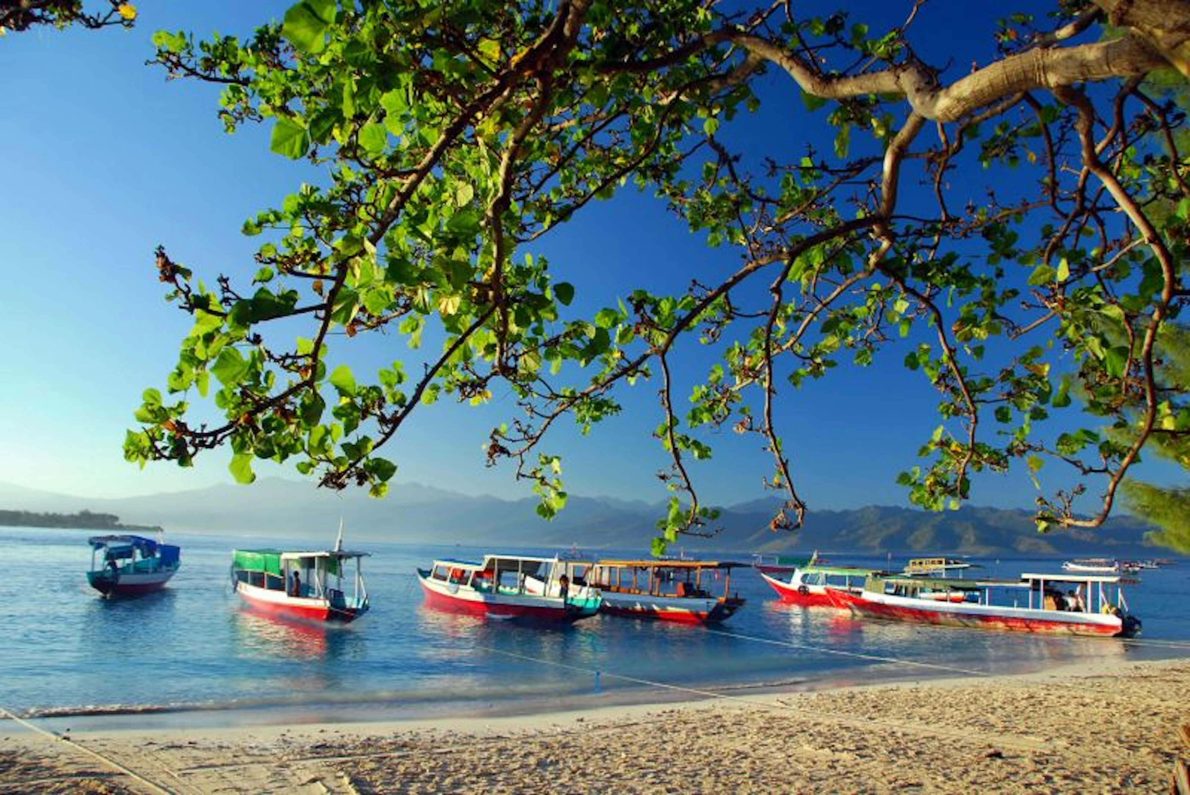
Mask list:
[{"label": "hazy distant mountain range along the horizon behind the boats", "polygon": [[[539,518],[532,498],[472,497],[418,484],[394,486],[388,499],[362,491],[340,493],[280,478],[251,486],[211,486],[193,491],[90,499],[0,482],[0,510],[79,512],[118,516],[120,522],[161,525],[167,532],[333,540],[340,519],[349,538],[461,544],[499,544],[583,549],[647,549],[664,505],[607,497],[571,496],[552,522]],[[868,506],[814,511],[797,532],[771,531],[779,503],[753,500],[722,509],[712,538],[682,538],[688,551],[785,554],[812,549],[835,554],[965,554],[982,557],[1033,555],[1152,556],[1145,540],[1151,528],[1130,517],[1111,519],[1096,531],[1040,535],[1026,511],[964,507],[929,513]]]}]

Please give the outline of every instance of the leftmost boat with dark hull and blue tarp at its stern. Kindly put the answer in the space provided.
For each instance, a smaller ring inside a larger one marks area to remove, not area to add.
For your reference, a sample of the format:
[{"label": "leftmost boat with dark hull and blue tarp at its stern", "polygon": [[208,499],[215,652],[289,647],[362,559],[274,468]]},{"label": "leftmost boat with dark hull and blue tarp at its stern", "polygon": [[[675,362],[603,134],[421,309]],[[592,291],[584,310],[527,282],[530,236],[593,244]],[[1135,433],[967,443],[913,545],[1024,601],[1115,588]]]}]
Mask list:
[{"label": "leftmost boat with dark hull and blue tarp at its stern", "polygon": [[92,536],[87,582],[105,597],[163,588],[182,562],[178,547],[142,536]]}]

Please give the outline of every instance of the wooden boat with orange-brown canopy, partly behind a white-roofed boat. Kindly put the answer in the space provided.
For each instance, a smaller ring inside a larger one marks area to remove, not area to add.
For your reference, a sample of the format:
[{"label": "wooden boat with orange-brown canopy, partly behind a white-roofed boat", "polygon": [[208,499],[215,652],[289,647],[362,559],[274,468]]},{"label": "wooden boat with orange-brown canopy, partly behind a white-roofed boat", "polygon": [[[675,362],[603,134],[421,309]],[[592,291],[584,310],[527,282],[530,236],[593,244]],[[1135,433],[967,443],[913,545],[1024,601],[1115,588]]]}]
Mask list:
[{"label": "wooden boat with orange-brown canopy, partly behind a white-roofed boat", "polygon": [[731,593],[732,569],[743,566],[719,561],[603,560],[593,563],[583,575],[588,585],[599,588],[606,613],[714,624],[744,606],[744,599]]}]

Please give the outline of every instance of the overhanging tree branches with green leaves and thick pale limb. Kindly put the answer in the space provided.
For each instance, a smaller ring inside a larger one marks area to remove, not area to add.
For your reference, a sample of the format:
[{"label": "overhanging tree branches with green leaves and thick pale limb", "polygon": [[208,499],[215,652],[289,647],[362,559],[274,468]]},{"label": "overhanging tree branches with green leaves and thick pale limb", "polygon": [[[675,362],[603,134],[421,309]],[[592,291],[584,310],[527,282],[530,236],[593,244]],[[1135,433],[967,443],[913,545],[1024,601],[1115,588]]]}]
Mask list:
[{"label": "overhanging tree branches with green leaves and thick pale limb", "polygon": [[[126,458],[188,465],[230,446],[242,481],[256,459],[294,459],[383,494],[395,466],[380,450],[414,409],[499,384],[524,412],[491,433],[489,460],[514,461],[551,516],[565,491],[546,431],[566,416],[585,431],[619,411],[619,385],[651,379],[674,492],[663,548],[712,516],[687,465],[720,427],[771,454],[765,481],[787,496],[774,528],[798,525],[774,402],[902,346],[940,395],[922,465],[901,477],[913,503],[957,505],[973,473],[1013,460],[1038,477],[1060,462],[1101,499],[1084,513],[1083,486],[1039,499],[1039,526],[1100,524],[1141,449],[1190,433],[1155,346],[1186,298],[1185,119],[1145,82],[1184,81],[1190,4],[1006,12],[970,71],[917,56],[920,5],[878,30],[797,4],[303,0],[246,39],[158,33],[171,76],[224,86],[228,131],[270,124],[273,151],[325,179],[244,225],[264,241],[250,278],[208,285],[157,252],[194,326]],[[979,46],[956,32],[957,61]],[[820,130],[758,154],[728,133],[770,86]],[[576,286],[533,244],[632,184],[737,266],[672,295],[630,285],[575,318]],[[418,348],[427,332],[440,349],[367,376],[331,345]],[[720,360],[683,406],[671,364],[699,343]],[[193,421],[194,398],[224,419]],[[1079,409],[1082,429],[1042,433]]]}]

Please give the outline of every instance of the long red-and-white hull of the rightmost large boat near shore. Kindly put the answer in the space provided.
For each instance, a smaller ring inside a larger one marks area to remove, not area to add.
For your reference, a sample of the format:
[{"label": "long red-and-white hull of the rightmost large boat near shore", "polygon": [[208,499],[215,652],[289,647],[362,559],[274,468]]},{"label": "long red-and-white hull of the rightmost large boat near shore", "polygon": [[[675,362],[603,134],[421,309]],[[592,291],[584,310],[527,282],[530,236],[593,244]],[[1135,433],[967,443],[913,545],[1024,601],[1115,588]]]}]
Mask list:
[{"label": "long red-and-white hull of the rightmost large boat near shore", "polygon": [[1128,633],[1121,617],[1106,613],[1067,613],[1028,607],[927,601],[870,592],[864,592],[853,599],[832,595],[858,616],[884,620],[1046,635],[1116,637]]}]

